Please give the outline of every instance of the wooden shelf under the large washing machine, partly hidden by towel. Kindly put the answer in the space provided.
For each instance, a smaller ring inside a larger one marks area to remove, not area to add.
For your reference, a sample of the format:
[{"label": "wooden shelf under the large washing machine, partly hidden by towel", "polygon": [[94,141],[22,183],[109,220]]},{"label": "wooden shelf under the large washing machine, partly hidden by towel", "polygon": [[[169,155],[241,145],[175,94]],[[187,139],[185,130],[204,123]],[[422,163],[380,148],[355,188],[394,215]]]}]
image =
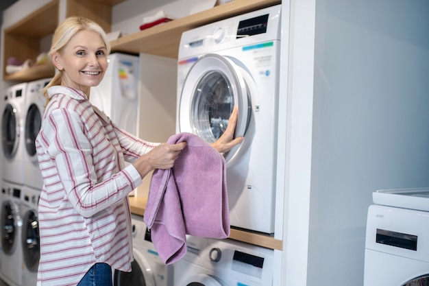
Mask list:
[{"label": "wooden shelf under the large washing machine, partly hidden by towel", "polygon": [[[145,214],[146,204],[147,198],[145,197],[130,197],[131,213],[143,216]],[[282,250],[283,245],[281,240],[274,239],[271,235],[256,233],[250,230],[237,229],[234,227],[231,227],[230,239],[252,243],[256,246],[263,246],[265,248],[275,250]]]}]

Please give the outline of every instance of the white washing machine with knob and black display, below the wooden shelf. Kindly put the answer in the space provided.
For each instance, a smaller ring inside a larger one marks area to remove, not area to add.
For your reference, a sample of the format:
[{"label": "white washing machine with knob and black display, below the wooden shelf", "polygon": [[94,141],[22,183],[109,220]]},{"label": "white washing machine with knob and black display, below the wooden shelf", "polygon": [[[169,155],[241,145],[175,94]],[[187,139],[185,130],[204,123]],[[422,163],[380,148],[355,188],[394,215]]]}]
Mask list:
[{"label": "white washing machine with knob and black display, below the wooden shelf", "polygon": [[273,285],[273,250],[232,239],[201,244],[173,263],[175,286]]}]

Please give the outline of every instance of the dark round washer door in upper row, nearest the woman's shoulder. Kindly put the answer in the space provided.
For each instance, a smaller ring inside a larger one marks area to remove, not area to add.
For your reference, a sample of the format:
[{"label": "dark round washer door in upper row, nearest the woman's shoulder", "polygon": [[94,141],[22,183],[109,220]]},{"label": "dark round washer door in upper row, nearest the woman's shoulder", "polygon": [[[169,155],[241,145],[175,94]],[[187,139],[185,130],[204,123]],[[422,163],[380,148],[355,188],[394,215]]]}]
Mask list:
[{"label": "dark round washer door in upper row, nearest the woman's shoulder", "polygon": [[29,106],[25,117],[25,150],[30,157],[36,155],[36,137],[42,126],[42,117],[36,104]]}]

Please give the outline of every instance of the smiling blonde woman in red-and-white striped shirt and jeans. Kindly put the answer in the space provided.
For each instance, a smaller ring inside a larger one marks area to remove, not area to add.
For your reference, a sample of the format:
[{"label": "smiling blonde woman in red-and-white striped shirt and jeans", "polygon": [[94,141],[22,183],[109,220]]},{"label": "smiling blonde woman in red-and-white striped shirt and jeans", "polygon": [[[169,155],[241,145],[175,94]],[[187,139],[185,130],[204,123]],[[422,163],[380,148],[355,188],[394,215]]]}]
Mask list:
[{"label": "smiling blonde woman in red-and-white striped shirt and jeans", "polygon": [[[169,169],[186,143],[150,143],[119,129],[88,101],[108,67],[103,29],[70,17],[53,35],[58,73],[43,89],[47,106],[36,139],[44,186],[39,202],[38,285],[112,285],[111,268],[131,271],[128,194],[150,171]],[[234,108],[225,134],[213,143],[228,152]],[[125,160],[132,165],[125,167]]]}]

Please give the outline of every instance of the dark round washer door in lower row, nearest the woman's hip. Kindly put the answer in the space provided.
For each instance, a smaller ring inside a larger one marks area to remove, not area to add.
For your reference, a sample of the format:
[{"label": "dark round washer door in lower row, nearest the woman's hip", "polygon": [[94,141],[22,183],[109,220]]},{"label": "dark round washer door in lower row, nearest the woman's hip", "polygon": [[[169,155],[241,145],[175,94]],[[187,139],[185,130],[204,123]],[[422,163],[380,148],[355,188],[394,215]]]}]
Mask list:
[{"label": "dark round washer door in lower row, nearest the woman's hip", "polygon": [[25,266],[29,271],[36,272],[40,259],[40,239],[38,216],[35,211],[29,210],[25,213],[21,235]]}]

